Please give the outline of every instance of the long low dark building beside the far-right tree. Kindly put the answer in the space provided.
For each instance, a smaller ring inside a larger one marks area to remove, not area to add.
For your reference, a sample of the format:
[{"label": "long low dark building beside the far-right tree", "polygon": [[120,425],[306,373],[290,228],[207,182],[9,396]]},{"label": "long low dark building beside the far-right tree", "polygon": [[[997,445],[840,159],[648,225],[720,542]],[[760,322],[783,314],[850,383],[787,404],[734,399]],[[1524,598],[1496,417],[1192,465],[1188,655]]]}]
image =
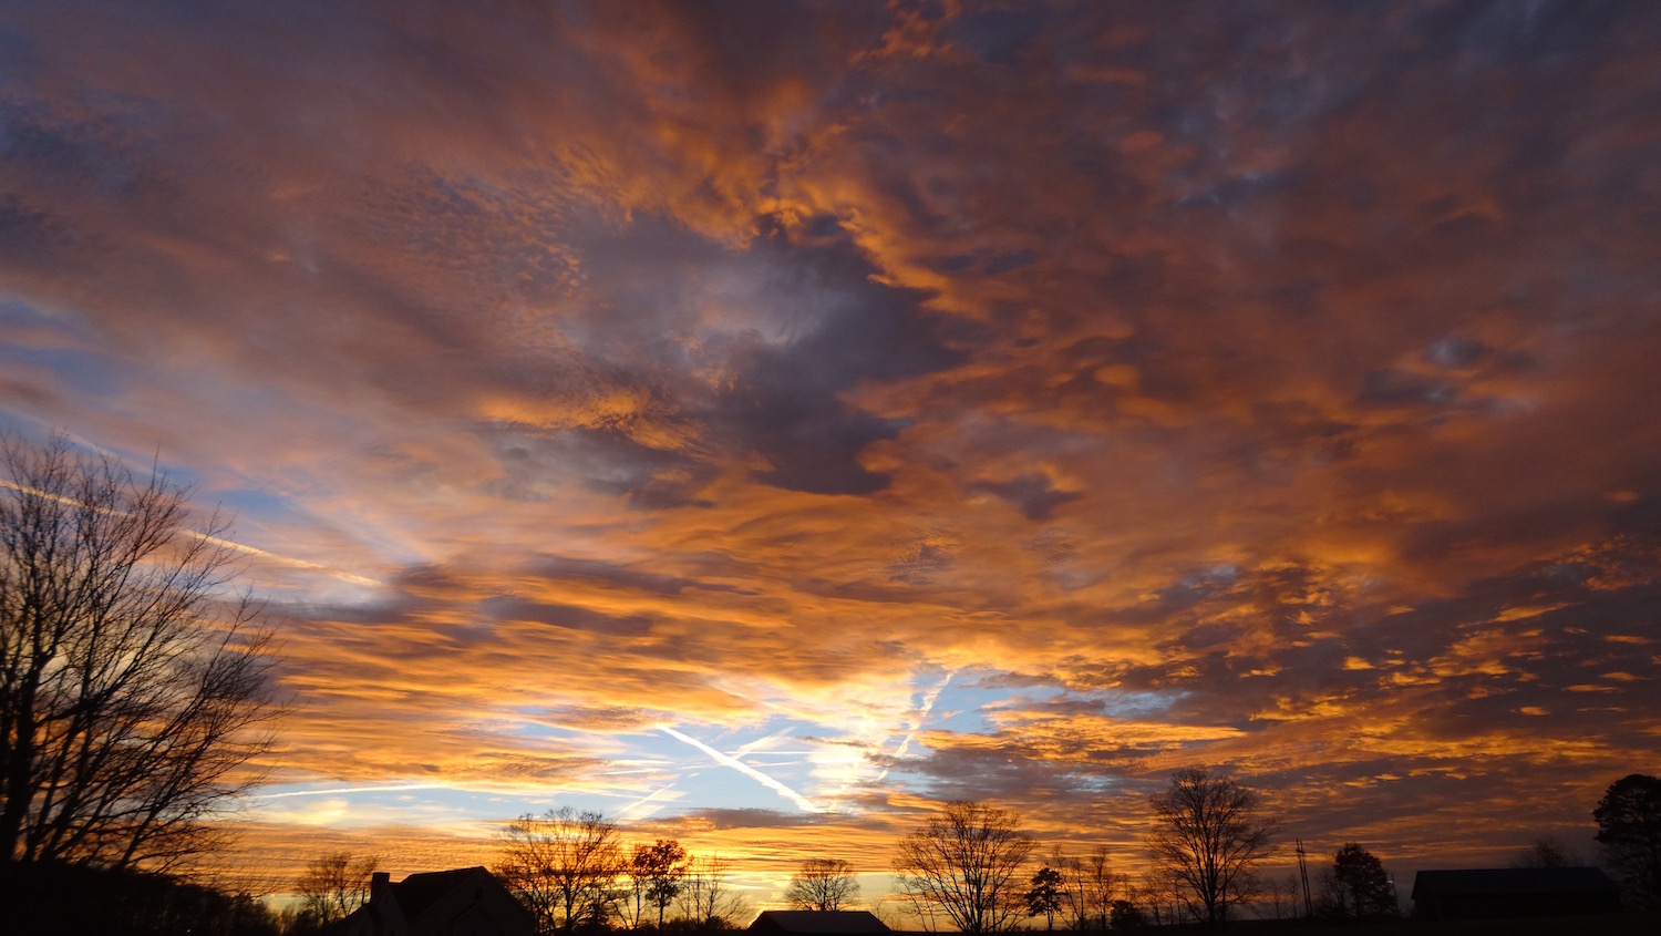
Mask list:
[{"label": "long low dark building beside the far-right tree", "polygon": [[1420,871],[1414,914],[1425,919],[1618,913],[1621,891],[1598,868]]}]

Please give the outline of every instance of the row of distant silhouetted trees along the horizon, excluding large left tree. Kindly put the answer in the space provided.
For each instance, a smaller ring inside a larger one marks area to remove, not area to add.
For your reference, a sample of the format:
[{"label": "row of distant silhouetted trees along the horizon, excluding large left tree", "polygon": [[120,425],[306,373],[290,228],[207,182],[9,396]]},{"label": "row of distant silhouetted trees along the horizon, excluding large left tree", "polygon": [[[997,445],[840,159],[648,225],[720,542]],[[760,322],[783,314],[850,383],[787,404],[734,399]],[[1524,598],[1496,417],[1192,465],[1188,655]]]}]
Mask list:
[{"label": "row of distant silhouetted trees along the horizon, excluding large left tree", "polygon": [[[1116,869],[1108,848],[1041,860],[1020,816],[985,803],[947,803],[902,838],[885,871],[897,888],[872,901],[895,928],[998,933],[1017,928],[1133,931],[1246,921],[1380,923],[1402,914],[1384,861],[1359,843],[1304,861],[1299,873],[1264,865],[1286,843],[1256,791],[1208,770],[1179,770],[1148,798],[1151,830],[1139,873]],[[1661,906],[1656,868],[1661,846],[1661,785],[1643,775],[1610,786],[1595,810],[1605,865],[1623,883],[1628,906]],[[1540,838],[1515,866],[1580,863],[1560,843]],[[324,856],[297,881],[302,894],[291,933],[316,931],[367,899],[374,860]],[[502,833],[492,868],[546,934],[742,926],[754,909],[729,883],[718,856],[694,858],[674,840],[628,843],[601,813],[561,808],[522,816]],[[344,874],[342,874],[344,871]],[[872,868],[864,868],[872,871]],[[860,868],[839,858],[801,861],[784,891],[797,909],[860,906]]]}]

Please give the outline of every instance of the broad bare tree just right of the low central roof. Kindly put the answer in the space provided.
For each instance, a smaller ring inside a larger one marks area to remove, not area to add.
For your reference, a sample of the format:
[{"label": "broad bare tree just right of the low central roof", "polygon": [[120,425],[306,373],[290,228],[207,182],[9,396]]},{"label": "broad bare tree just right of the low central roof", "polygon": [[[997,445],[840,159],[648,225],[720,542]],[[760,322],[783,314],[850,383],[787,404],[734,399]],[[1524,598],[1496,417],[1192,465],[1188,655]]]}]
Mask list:
[{"label": "broad bare tree just right of the low central roof", "polygon": [[1020,869],[1038,846],[1010,810],[947,803],[900,841],[894,874],[917,904],[938,906],[962,933],[1002,933],[1026,914]]}]

